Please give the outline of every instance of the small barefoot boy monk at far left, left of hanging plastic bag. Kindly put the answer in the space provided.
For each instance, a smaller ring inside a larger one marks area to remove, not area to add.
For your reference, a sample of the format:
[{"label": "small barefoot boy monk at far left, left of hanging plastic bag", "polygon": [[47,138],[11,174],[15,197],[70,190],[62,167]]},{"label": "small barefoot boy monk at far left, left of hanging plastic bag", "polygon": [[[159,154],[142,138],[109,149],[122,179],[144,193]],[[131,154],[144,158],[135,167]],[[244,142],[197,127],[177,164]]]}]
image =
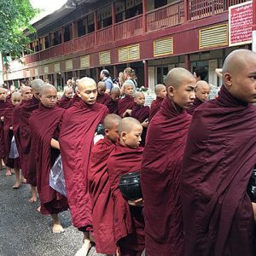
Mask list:
[{"label": "small barefoot boy monk at far left, left of hanging plastic bag", "polygon": [[11,169],[15,170],[15,185],[13,186],[14,189],[20,188],[20,158],[19,156],[13,155],[12,157],[9,156],[12,139],[14,137],[13,132],[13,124],[12,124],[12,117],[13,111],[15,106],[19,105],[21,102],[21,95],[18,92],[13,92],[11,95],[11,106],[6,108],[3,112],[3,133],[4,133],[4,141],[6,145],[6,155],[4,158],[4,163],[7,167],[6,175],[11,175]]}]

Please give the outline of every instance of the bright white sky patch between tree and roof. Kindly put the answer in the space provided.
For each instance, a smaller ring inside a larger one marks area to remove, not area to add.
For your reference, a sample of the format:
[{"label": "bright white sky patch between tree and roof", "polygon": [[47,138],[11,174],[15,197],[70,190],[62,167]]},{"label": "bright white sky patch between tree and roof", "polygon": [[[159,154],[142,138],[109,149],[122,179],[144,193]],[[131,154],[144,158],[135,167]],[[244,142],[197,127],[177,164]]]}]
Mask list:
[{"label": "bright white sky patch between tree and roof", "polygon": [[42,9],[39,15],[37,15],[33,20],[32,24],[36,21],[44,18],[44,16],[53,13],[55,10],[60,9],[62,5],[67,3],[67,0],[30,0],[32,7],[35,9]]}]

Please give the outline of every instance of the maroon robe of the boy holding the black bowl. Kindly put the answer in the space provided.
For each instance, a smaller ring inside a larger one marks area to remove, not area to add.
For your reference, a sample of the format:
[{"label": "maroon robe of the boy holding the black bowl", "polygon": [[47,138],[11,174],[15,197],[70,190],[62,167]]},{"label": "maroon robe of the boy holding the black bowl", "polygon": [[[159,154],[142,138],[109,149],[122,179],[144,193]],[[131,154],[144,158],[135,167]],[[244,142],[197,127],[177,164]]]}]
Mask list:
[{"label": "maroon robe of the boy holding the black bowl", "polygon": [[140,171],[142,157],[143,148],[126,148],[117,143],[108,158],[108,177],[114,204],[113,233],[121,255],[140,255],[144,249],[143,207],[129,206],[119,190],[120,177]]}]

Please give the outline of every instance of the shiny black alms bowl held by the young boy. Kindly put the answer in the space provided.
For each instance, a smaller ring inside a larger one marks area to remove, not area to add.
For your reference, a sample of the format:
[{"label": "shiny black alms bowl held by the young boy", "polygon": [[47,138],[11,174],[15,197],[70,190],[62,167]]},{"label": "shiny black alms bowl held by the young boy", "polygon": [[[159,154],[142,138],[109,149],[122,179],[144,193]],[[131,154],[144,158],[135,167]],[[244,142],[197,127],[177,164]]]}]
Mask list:
[{"label": "shiny black alms bowl held by the young boy", "polygon": [[130,172],[120,177],[119,189],[125,200],[137,200],[143,198],[140,172]]}]

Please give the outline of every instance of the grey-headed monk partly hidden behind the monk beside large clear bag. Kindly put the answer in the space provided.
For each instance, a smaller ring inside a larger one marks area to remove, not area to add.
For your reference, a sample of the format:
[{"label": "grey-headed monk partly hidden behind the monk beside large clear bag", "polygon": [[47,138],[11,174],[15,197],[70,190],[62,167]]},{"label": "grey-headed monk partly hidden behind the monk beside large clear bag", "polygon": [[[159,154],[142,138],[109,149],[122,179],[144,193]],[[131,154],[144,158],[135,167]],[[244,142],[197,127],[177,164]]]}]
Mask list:
[{"label": "grey-headed monk partly hidden behind the monk beside large clear bag", "polygon": [[20,144],[21,144],[21,161],[23,167],[23,175],[26,178],[26,182],[31,184],[32,197],[30,202],[36,202],[38,200],[37,188],[36,188],[36,162],[34,156],[34,148],[31,147],[31,130],[29,127],[28,119],[33,110],[38,109],[40,101],[40,90],[44,85],[42,79],[32,80],[32,99],[25,102],[20,109]]}]

